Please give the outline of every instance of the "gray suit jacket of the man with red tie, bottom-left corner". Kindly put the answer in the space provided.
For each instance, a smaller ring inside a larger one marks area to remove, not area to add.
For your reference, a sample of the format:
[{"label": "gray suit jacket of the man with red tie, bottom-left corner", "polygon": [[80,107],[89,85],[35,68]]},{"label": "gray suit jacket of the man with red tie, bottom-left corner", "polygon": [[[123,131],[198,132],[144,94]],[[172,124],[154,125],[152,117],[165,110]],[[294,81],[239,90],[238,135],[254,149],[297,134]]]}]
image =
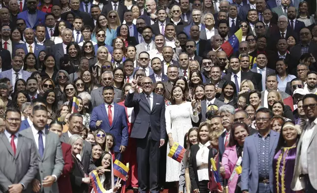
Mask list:
[{"label": "gray suit jacket of the man with red tie, bottom-left corner", "polygon": [[7,193],[9,185],[18,183],[25,186],[23,193],[32,193],[30,184],[38,172],[36,152],[38,151],[35,143],[18,134],[14,156],[8,138],[4,133],[0,134],[0,193]]}]

